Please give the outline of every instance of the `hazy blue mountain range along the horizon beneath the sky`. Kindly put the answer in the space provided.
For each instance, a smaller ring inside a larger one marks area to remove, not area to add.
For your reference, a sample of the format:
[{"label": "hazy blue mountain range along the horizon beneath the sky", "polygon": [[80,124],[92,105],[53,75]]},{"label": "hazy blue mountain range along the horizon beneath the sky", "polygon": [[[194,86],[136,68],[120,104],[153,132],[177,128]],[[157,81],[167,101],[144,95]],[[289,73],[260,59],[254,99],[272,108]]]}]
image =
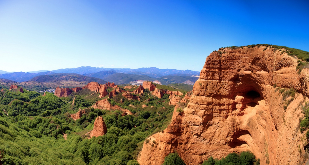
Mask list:
[{"label": "hazy blue mountain range along the horizon beneath the sky", "polygon": [[[7,73],[6,71],[1,71],[3,74],[0,74],[0,78],[5,78],[16,82],[50,82],[52,84],[61,84],[65,81],[83,83],[89,81],[96,81],[99,83],[109,81],[115,82],[116,84],[125,84],[132,83],[136,80],[158,80],[163,85],[171,83],[186,83],[193,85],[200,74],[200,72],[193,70],[158,69],[156,67],[130,69],[82,66],[78,68],[41,71],[44,72],[40,72],[40,70],[26,73]],[[70,83],[70,85],[74,85],[74,83]]]}]

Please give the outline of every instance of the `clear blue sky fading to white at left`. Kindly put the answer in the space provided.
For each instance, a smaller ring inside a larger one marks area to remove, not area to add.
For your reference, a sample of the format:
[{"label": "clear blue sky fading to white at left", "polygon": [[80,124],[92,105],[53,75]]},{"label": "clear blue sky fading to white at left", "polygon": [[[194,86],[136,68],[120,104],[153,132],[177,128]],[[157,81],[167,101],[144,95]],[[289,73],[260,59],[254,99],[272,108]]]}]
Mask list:
[{"label": "clear blue sky fading to white at left", "polygon": [[309,51],[308,9],[308,1],[0,0],[0,70],[200,71],[225,46]]}]

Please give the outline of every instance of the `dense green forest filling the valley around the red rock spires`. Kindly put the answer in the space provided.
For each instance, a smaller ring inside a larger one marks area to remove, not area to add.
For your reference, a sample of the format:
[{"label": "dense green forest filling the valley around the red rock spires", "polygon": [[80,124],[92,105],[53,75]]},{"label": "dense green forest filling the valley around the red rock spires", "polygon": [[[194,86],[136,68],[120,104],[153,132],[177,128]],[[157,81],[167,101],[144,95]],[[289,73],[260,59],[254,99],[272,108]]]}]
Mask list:
[{"label": "dense green forest filling the valley around the red rock spires", "polygon": [[[2,164],[137,165],[146,137],[165,129],[174,111],[174,106],[168,105],[168,94],[159,99],[147,89],[140,101],[122,95],[108,99],[112,105],[133,113],[125,116],[118,110],[92,108],[100,98],[88,89],[61,98],[48,92],[43,96],[26,89],[24,93],[3,89],[0,91]],[[142,108],[144,103],[148,107]],[[86,113],[74,121],[70,114],[81,109]],[[103,117],[107,134],[90,139],[87,133],[93,129],[97,116]],[[181,159],[177,156],[174,155],[175,160]]]}]

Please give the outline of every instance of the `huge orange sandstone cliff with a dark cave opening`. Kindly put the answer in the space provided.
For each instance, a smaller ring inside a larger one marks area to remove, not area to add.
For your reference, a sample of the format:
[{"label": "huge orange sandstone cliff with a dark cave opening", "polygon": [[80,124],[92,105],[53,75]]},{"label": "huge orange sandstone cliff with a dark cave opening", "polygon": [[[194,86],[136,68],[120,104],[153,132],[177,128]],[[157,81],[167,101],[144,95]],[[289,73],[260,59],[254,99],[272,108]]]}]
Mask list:
[{"label": "huge orange sandstone cliff with a dark cave opening", "polygon": [[[300,105],[308,101],[309,70],[297,74],[297,59],[264,48],[211,53],[188,106],[181,113],[175,108],[164,132],[148,138],[156,145],[144,143],[138,162],[162,164],[166,155],[177,151],[187,165],[196,165],[209,156],[221,158],[246,150],[262,165],[304,161],[306,142],[298,126],[303,117]],[[274,84],[299,92],[286,110]]]}]

